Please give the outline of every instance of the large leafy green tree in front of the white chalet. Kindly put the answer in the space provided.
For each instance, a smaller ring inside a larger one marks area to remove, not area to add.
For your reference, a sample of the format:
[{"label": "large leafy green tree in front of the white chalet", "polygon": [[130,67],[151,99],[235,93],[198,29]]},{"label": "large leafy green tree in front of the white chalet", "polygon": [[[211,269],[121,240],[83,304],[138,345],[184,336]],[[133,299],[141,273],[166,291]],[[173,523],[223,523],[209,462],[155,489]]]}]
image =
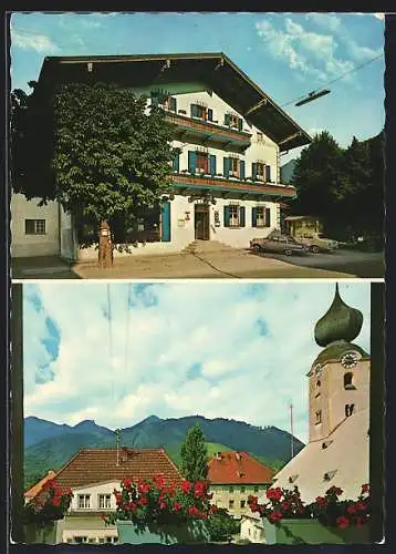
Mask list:
[{"label": "large leafy green tree in front of the white chalet", "polygon": [[160,107],[146,114],[145,98],[103,83],[62,85],[53,98],[37,90],[25,109],[14,101],[19,192],[58,201],[79,227],[131,225],[158,209],[175,155]]}]

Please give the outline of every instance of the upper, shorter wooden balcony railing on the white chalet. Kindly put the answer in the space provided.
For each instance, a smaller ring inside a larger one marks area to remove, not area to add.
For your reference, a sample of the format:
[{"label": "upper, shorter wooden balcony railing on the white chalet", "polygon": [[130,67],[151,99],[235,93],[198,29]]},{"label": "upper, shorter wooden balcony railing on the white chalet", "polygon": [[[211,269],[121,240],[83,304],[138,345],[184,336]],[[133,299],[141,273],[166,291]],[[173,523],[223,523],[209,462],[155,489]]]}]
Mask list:
[{"label": "upper, shorter wooden balcony railing on the white chalet", "polygon": [[205,141],[213,141],[222,144],[236,145],[247,148],[252,137],[247,131],[227,127],[196,117],[188,117],[173,112],[166,113],[169,123],[176,125],[176,134],[190,134],[199,136]]}]

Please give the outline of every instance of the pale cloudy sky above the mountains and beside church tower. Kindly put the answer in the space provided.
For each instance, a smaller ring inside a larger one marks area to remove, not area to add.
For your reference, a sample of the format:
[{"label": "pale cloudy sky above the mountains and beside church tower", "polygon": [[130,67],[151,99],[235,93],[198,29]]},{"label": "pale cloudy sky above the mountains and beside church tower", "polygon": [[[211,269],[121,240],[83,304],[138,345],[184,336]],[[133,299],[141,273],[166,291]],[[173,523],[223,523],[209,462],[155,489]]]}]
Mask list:
[{"label": "pale cloudy sky above the mountains and beside church tower", "polygon": [[[24,417],[110,429],[200,414],[308,441],[314,325],[335,285],[174,281],[23,284]],[[369,283],[342,283],[369,352]]]}]

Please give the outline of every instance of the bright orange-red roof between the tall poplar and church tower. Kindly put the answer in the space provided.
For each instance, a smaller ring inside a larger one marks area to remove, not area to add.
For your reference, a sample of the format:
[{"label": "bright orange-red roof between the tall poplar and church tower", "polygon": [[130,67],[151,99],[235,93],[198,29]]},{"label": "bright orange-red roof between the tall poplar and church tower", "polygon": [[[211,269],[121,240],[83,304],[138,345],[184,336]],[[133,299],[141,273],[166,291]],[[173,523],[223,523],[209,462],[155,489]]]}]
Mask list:
[{"label": "bright orange-red roof between the tall poplar and church tower", "polygon": [[212,484],[271,483],[275,473],[248,452],[220,452],[213,455],[208,466],[208,480]]}]

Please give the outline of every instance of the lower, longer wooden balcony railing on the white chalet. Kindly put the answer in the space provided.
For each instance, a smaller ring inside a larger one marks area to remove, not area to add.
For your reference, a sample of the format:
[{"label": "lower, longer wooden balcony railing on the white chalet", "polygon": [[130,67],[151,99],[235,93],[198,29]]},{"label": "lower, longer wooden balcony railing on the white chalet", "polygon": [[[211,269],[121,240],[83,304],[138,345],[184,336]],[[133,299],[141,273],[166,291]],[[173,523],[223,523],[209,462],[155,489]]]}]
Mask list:
[{"label": "lower, longer wooden balcony railing on the white chalet", "polygon": [[191,175],[190,173],[174,173],[171,176],[173,183],[175,183],[178,188],[185,186],[188,188],[202,187],[202,188],[218,188],[219,192],[227,188],[229,191],[236,191],[240,193],[248,194],[254,193],[268,195],[268,196],[279,196],[286,198],[294,198],[296,196],[296,191],[293,186],[282,185],[281,183],[260,183],[247,178],[230,178],[220,175]]}]

